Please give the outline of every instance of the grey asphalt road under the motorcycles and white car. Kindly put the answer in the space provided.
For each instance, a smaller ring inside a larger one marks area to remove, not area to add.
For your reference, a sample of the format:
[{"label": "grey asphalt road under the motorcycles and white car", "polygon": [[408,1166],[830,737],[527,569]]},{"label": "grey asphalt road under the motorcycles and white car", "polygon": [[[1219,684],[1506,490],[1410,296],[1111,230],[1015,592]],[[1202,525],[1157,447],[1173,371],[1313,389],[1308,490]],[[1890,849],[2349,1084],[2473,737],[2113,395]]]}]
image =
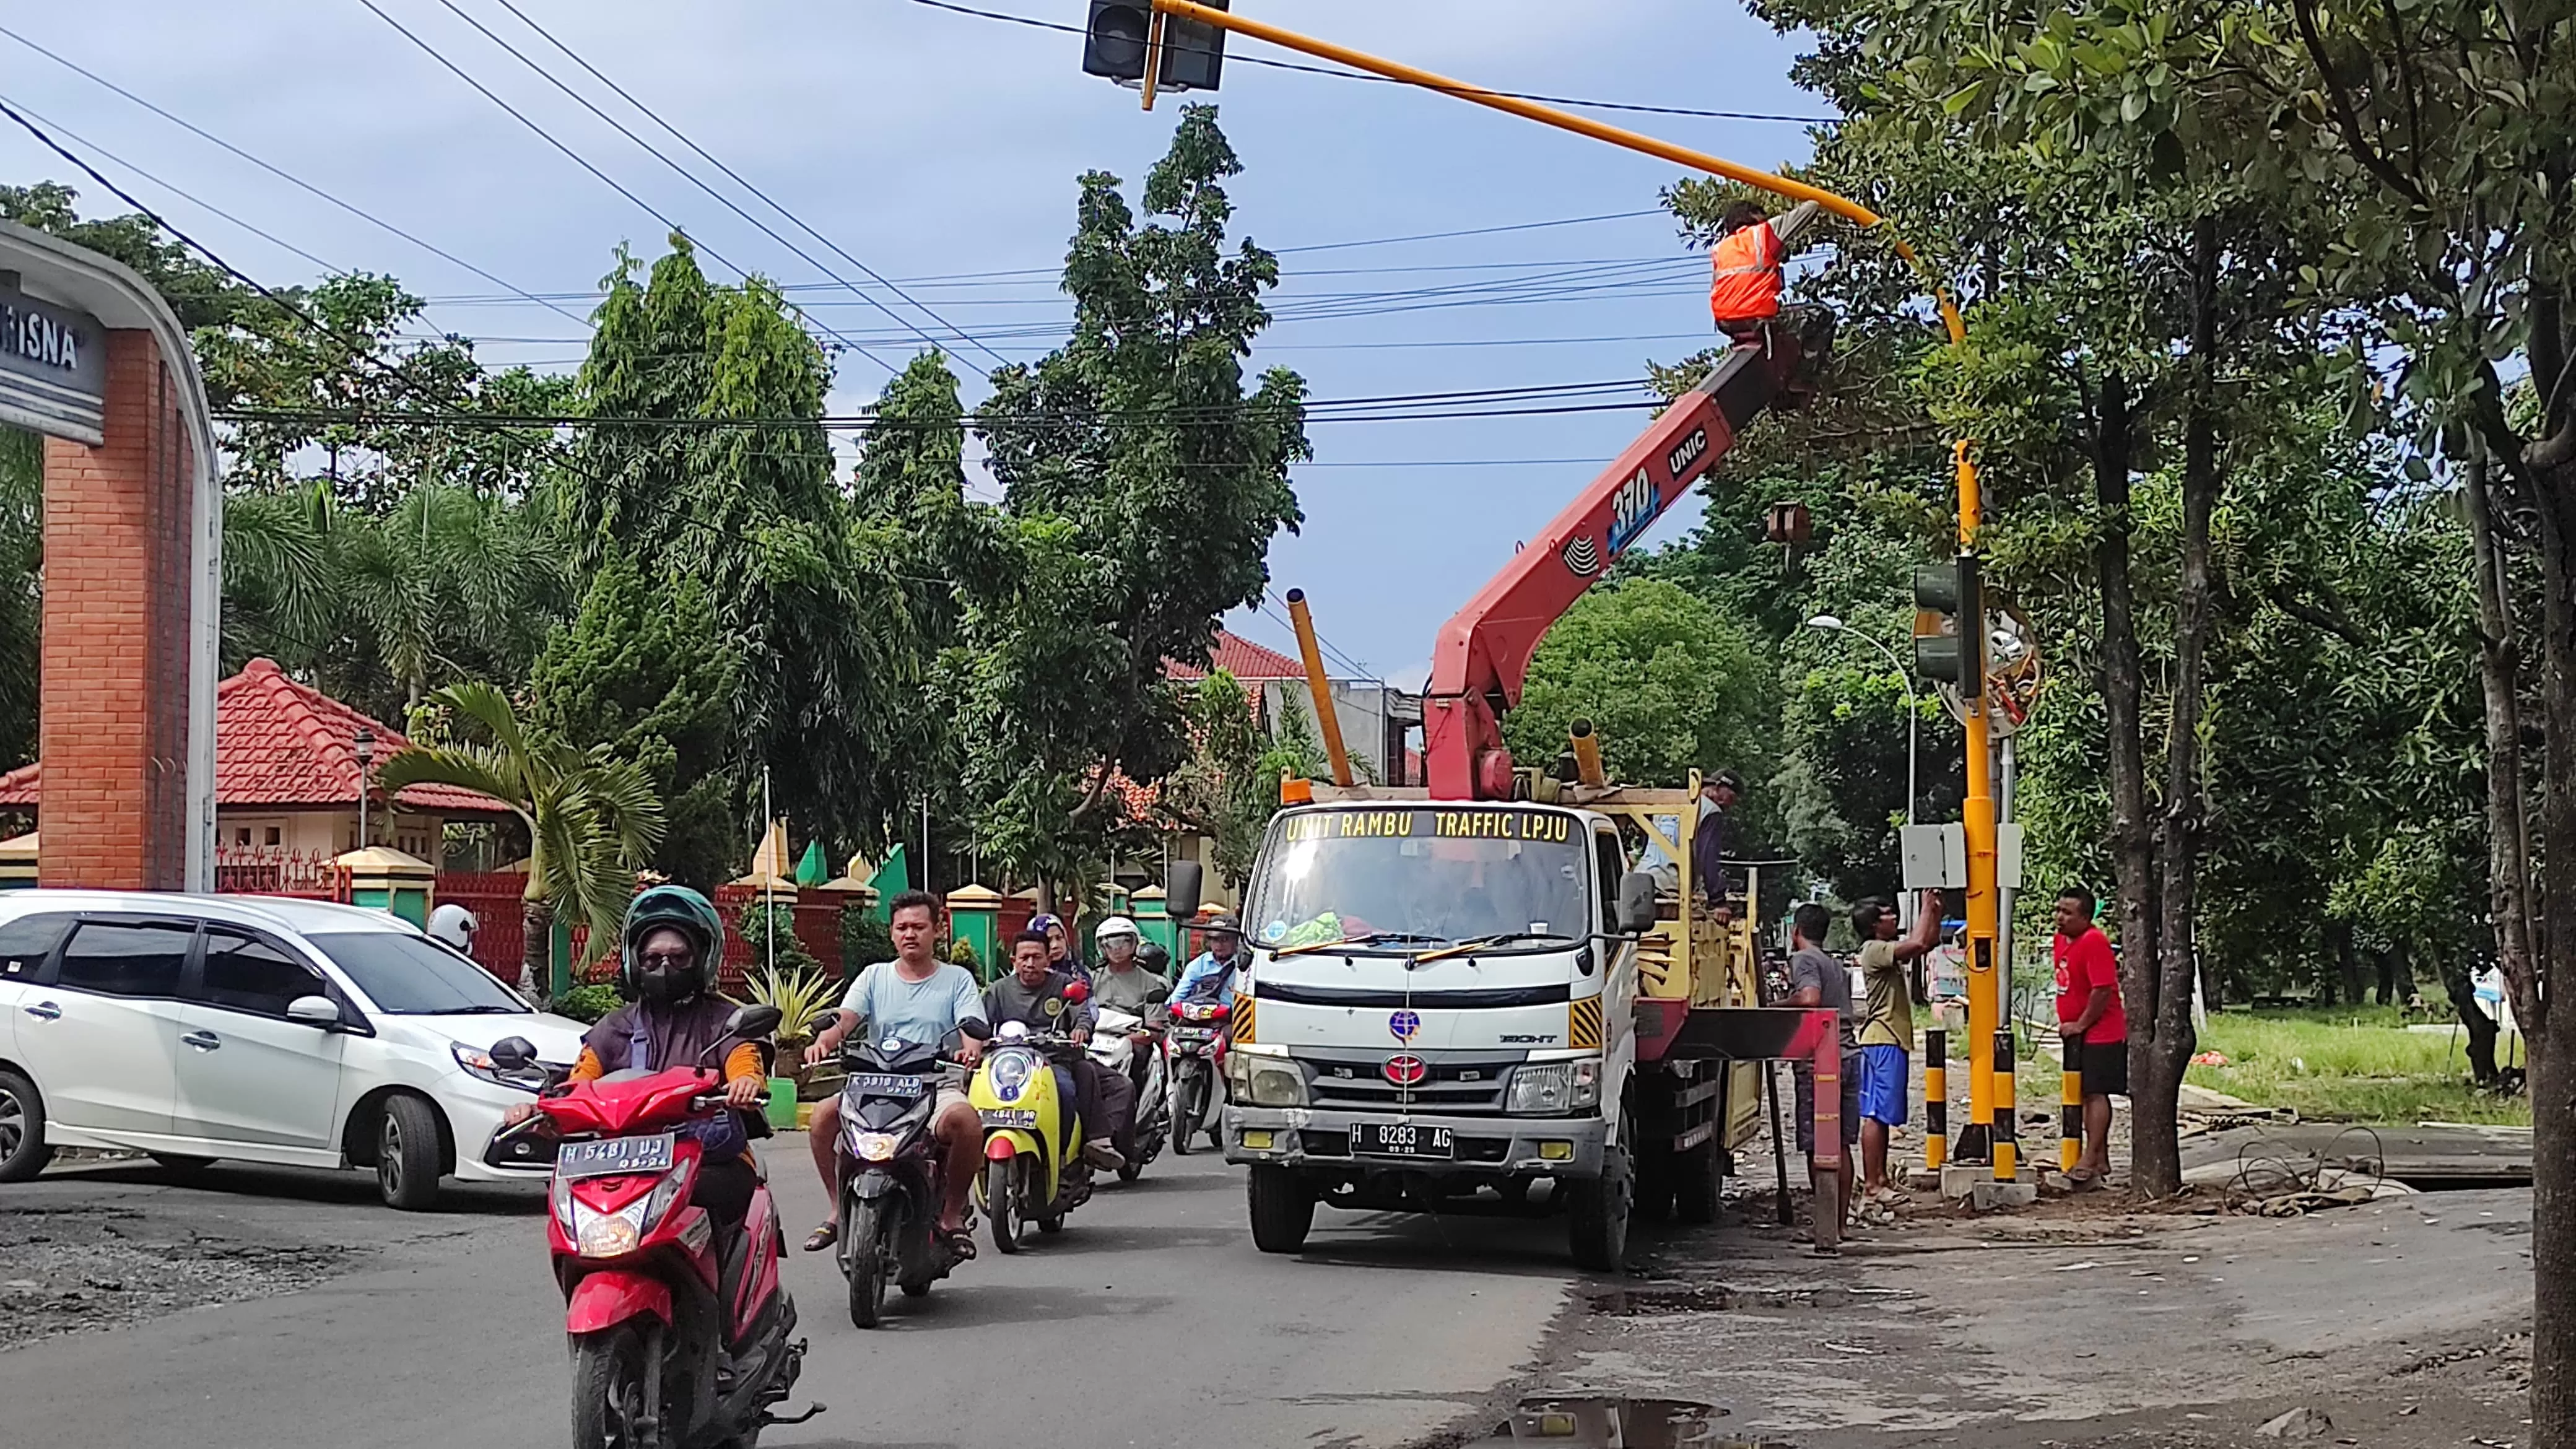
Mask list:
[{"label": "grey asphalt road under the motorcycles and white car", "polygon": [[[1324,1209],[1301,1258],[1252,1250],[1242,1173],[1162,1158],[1059,1238],[984,1253],[860,1333],[827,1256],[804,1140],[768,1145],[786,1189],[788,1289],[811,1341],[799,1397],[822,1418],[762,1439],[811,1449],[940,1444],[1394,1446],[1473,1418],[1525,1369],[1574,1274],[1561,1220]],[[348,1248],[312,1287],[0,1351],[13,1444],[59,1449],[453,1449],[567,1436],[562,1299],[541,1194],[479,1189],[397,1214],[371,1178],[214,1168],[52,1171],[0,1217],[98,1209],[134,1245]],[[59,1217],[57,1217],[59,1222]],[[13,1279],[0,1250],[0,1279]],[[0,1299],[0,1312],[8,1312]]]}]

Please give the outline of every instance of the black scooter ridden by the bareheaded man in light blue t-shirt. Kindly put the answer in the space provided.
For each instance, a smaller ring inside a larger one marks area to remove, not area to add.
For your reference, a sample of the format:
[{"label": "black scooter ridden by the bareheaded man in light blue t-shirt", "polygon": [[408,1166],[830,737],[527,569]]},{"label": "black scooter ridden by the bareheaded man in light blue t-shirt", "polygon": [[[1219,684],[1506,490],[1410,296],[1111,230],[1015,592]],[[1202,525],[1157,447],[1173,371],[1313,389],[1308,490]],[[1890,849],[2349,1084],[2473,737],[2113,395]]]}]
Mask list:
[{"label": "black scooter ridden by the bareheaded man in light blue t-shirt", "polygon": [[948,1052],[938,1044],[850,1042],[840,1052],[840,1261],[850,1323],[876,1328],[886,1284],[925,1297],[956,1266],[940,1240],[945,1152],[930,1132]]}]

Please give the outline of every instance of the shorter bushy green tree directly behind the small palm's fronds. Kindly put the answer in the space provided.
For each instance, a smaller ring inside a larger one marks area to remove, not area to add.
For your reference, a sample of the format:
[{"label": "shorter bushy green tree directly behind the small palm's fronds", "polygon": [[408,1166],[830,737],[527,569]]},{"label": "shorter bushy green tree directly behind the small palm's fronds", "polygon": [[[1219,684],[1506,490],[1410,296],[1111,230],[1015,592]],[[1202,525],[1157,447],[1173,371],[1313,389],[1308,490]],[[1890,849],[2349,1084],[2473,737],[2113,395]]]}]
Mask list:
[{"label": "shorter bushy green tree directly behind the small palm's fronds", "polygon": [[742,853],[737,657],[706,585],[611,554],[528,678],[531,722],[634,761],[665,802],[652,869],[714,890]]}]

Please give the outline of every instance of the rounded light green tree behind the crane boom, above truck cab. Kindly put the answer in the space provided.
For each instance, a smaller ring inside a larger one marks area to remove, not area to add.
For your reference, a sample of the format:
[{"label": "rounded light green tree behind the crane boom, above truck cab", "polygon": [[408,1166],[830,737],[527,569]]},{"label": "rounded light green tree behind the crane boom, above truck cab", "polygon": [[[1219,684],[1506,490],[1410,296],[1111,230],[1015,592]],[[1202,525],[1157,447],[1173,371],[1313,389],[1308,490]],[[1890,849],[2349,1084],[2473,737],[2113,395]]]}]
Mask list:
[{"label": "rounded light green tree behind the crane boom, above truck cab", "polygon": [[1613,779],[1687,784],[1728,766],[1765,779],[1777,727],[1770,670],[1744,632],[1708,601],[1664,580],[1595,588],[1530,655],[1504,743],[1553,761],[1566,727],[1589,719]]}]

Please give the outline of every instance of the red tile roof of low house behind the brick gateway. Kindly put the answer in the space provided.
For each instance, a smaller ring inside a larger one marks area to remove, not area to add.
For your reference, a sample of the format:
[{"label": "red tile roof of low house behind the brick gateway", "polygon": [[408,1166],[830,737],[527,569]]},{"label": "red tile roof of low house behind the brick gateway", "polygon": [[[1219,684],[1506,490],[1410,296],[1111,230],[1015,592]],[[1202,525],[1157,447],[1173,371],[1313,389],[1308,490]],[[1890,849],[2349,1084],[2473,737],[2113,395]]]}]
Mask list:
[{"label": "red tile roof of low house behind the brick gateway", "polygon": [[[276,660],[214,686],[214,804],[276,810],[358,802],[358,727],[376,735],[376,763],[410,745],[394,727],[286,678]],[[36,771],[0,776],[0,807],[36,807]],[[415,784],[402,804],[438,815],[510,815],[510,807],[446,784]]]}]

